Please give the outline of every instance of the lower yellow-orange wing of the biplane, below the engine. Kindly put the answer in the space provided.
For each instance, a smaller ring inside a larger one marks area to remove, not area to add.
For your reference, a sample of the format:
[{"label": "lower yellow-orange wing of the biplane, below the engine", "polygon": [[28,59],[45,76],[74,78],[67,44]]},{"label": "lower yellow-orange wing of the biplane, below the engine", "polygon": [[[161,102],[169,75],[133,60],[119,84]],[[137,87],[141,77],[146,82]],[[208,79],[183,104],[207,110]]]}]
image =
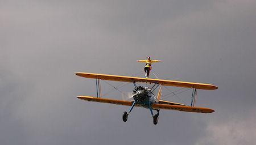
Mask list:
[{"label": "lower yellow-orange wing of the biplane, below the engine", "polygon": [[[91,97],[91,96],[78,96],[78,99],[86,100],[86,101],[94,101],[100,103],[110,103],[116,105],[126,105],[131,106],[133,103],[131,101],[122,101],[122,100],[114,100],[114,99],[106,99],[99,97]],[[135,106],[141,106],[136,104]],[[168,109],[168,110],[179,110],[184,112],[197,112],[197,113],[212,113],[213,109],[209,108],[201,108],[201,107],[191,107],[191,106],[183,106],[183,105],[168,105],[168,104],[152,104],[153,109]]]}]

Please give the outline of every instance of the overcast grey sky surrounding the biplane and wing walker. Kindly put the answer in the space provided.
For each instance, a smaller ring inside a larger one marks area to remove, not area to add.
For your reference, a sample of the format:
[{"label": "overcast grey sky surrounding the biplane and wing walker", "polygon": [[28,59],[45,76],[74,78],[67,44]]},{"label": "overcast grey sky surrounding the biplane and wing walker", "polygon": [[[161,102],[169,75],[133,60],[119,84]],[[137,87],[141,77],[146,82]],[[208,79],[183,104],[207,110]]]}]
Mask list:
[{"label": "overcast grey sky surrounding the biplane and wing walker", "polygon": [[[255,14],[249,0],[0,0],[0,144],[254,144]],[[159,78],[218,86],[196,104],[216,112],[161,110],[153,125],[147,109],[123,122],[127,106],[76,99],[96,89],[74,72],[134,75],[147,56]]]}]

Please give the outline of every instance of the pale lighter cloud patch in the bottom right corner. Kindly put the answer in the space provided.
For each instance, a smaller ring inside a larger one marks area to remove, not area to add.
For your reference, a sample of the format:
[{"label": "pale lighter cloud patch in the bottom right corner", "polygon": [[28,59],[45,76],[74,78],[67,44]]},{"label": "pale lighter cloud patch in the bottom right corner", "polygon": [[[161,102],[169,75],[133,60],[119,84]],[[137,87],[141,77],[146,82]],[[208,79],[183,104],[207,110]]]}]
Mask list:
[{"label": "pale lighter cloud patch in the bottom right corner", "polygon": [[256,109],[246,112],[245,117],[238,114],[224,121],[210,121],[196,144],[251,144],[256,142]]}]

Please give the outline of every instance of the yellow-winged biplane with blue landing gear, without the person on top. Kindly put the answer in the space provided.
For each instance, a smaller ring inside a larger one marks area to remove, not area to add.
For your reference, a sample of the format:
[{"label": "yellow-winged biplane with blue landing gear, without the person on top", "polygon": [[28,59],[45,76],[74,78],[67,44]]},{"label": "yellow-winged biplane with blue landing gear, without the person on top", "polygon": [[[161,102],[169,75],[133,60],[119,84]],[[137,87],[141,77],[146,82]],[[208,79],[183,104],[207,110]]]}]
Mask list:
[{"label": "yellow-winged biplane with blue landing gear, without the person on top", "polygon": [[[84,78],[96,79],[96,87],[97,87],[97,97],[92,96],[77,96],[78,99],[86,100],[86,101],[95,101],[99,103],[110,103],[117,105],[126,105],[130,106],[128,112],[123,112],[122,120],[124,122],[127,121],[131,110],[133,110],[134,106],[147,108],[150,110],[150,113],[153,117],[153,123],[156,125],[158,123],[159,118],[159,110],[167,109],[167,110],[179,110],[182,112],[196,112],[196,113],[212,113],[213,109],[203,108],[195,106],[195,97],[197,94],[197,89],[207,89],[213,90],[217,89],[217,86],[212,84],[204,84],[204,83],[192,83],[192,82],[180,82],[176,80],[163,80],[163,79],[152,79],[152,78],[139,78],[135,76],[120,76],[120,75],[108,75],[108,74],[94,74],[89,72],[76,72],[78,76]],[[115,100],[115,99],[106,99],[101,97],[100,91],[100,80],[110,80],[117,82],[129,82],[134,84],[134,90],[131,101],[126,100]],[[145,83],[152,84],[152,87],[143,87],[137,86],[137,83]],[[159,86],[174,86],[174,87],[184,87],[184,88],[192,88],[192,103],[191,105],[184,105],[181,103],[174,103],[171,101],[161,100],[162,96],[162,87]],[[159,91],[157,95],[155,95],[154,91],[159,87]],[[157,113],[154,115],[153,110]]]}]

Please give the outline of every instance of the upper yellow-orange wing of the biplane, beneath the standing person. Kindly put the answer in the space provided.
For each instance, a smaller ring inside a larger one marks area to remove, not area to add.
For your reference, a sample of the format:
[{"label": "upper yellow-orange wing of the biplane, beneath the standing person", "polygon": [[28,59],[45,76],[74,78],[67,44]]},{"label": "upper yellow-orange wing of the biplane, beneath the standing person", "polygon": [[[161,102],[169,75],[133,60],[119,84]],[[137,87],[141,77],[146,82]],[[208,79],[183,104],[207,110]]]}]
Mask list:
[{"label": "upper yellow-orange wing of the biplane, beneath the standing person", "polygon": [[88,72],[76,72],[78,76],[92,79],[112,80],[118,82],[145,82],[145,83],[158,83],[163,86],[185,87],[185,88],[197,88],[197,89],[217,89],[217,86],[212,84],[192,83],[192,82],[180,82],[176,80],[163,80],[163,79],[146,79],[138,78],[134,76],[121,76],[121,75],[106,75],[106,74],[94,74]]}]

